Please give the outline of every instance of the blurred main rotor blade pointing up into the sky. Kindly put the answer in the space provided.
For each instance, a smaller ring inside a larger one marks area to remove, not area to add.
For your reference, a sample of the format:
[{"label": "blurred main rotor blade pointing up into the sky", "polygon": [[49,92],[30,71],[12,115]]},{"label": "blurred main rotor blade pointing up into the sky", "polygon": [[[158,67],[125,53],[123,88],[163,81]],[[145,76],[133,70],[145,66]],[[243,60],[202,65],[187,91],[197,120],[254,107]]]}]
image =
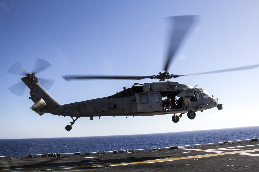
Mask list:
[{"label": "blurred main rotor blade pointing up into the sky", "polygon": [[196,15],[182,15],[182,16],[173,16],[169,17],[171,22],[174,22],[174,27],[170,30],[170,46],[168,50],[168,55],[166,58],[166,64],[164,67],[164,71],[167,72],[168,66],[170,62],[175,58],[175,54],[181,45],[184,36],[191,28],[193,23],[196,21]]}]

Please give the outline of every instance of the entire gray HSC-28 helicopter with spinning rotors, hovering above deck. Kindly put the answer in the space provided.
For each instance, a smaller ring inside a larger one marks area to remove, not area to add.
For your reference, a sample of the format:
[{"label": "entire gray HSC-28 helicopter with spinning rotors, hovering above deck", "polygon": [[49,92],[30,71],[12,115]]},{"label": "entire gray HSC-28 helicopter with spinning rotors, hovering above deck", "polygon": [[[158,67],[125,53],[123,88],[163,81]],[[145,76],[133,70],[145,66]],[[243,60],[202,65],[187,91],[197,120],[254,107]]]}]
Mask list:
[{"label": "entire gray HSC-28 helicopter with spinning rotors, hovering above deck", "polygon": [[[21,80],[30,89],[29,99],[34,103],[31,106],[33,111],[39,115],[51,113],[54,115],[70,116],[73,122],[70,122],[70,124],[66,126],[67,131],[70,131],[72,129],[72,125],[81,117],[89,117],[90,120],[93,120],[93,117],[100,118],[101,116],[114,117],[174,114],[172,116],[172,121],[176,123],[183,114],[187,113],[189,119],[194,119],[197,111],[204,111],[213,107],[217,107],[218,110],[222,109],[222,104],[218,104],[218,99],[211,96],[205,89],[169,80],[180,76],[188,76],[170,74],[168,72],[168,67],[170,62],[174,59],[176,51],[182,43],[183,38],[193,25],[195,18],[196,16],[193,15],[174,16],[169,18],[174,22],[174,27],[171,32],[170,46],[164,67],[165,72],[160,72],[158,75],[150,76],[63,76],[67,81],[74,79],[141,80],[145,78],[159,80],[159,82],[152,83],[135,83],[131,88],[126,89],[124,87],[123,91],[112,96],[64,105],[59,104],[41,86],[43,83],[47,83],[48,86],[51,86],[53,81],[44,80],[43,82],[36,76],[36,73],[38,74],[51,66],[49,62],[43,59],[37,59],[32,72],[26,72],[20,62],[17,62],[8,70],[7,73],[22,74],[25,76],[22,77]],[[252,69],[258,66],[259,64],[189,75],[238,71]],[[17,90],[20,90],[20,85],[21,84],[18,83],[13,87],[10,87],[9,90],[19,95]]]}]

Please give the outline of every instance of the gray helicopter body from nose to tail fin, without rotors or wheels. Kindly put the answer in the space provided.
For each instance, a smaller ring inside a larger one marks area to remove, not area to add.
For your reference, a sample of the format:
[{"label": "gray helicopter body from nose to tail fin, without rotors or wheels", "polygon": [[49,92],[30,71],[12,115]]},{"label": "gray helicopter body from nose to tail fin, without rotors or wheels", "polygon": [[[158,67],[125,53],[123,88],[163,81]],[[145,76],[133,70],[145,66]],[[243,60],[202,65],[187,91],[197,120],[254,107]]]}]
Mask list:
[{"label": "gray helicopter body from nose to tail fin, without rotors or wheels", "polygon": [[[161,114],[203,111],[218,106],[218,100],[204,89],[173,81],[162,81],[133,85],[115,95],[60,105],[39,85],[39,79],[24,77],[23,82],[30,88],[32,110],[42,115],[51,113],[70,117],[98,116],[150,116]],[[165,98],[171,99],[169,109],[163,107]],[[219,106],[218,106],[219,108]],[[222,108],[222,105],[221,105]]]}]

